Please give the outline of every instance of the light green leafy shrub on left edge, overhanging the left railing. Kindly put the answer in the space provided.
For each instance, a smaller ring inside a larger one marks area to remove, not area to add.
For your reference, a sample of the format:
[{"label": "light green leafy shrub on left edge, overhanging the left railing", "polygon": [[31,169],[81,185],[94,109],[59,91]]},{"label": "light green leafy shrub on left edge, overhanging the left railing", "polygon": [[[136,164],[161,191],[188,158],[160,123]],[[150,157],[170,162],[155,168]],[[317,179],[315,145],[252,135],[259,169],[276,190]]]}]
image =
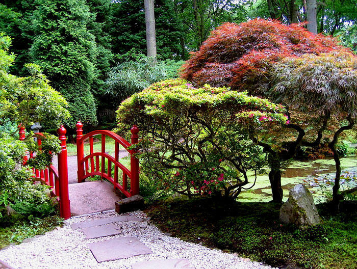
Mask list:
[{"label": "light green leafy shrub on left edge, overhanging the left railing", "polygon": [[[49,86],[40,68],[27,64],[30,76],[9,74],[15,60],[8,52],[11,38],[0,34],[0,224],[7,219],[9,208],[18,213],[43,216],[54,212],[52,201],[45,194],[46,186],[33,184],[32,173],[22,165],[26,152],[35,152],[30,168],[40,168],[51,162],[52,153],[61,150],[57,137],[44,134],[41,150],[30,133],[20,141],[17,126],[29,126],[39,121],[56,128],[69,117],[67,102]],[[3,128],[5,126],[5,128]]]}]

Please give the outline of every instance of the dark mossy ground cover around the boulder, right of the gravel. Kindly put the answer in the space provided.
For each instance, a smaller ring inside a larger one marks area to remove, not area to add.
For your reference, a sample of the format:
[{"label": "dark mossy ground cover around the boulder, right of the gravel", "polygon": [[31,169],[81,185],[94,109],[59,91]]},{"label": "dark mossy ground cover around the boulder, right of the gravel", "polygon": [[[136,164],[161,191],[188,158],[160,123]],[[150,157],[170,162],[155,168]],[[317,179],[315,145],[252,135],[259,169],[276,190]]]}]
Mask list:
[{"label": "dark mossy ground cover around the boulder, right of the gravel", "polygon": [[194,243],[284,268],[356,268],[357,203],[333,216],[317,205],[322,225],[305,230],[279,222],[281,204],[210,198],[158,202],[146,209],[165,232]]}]

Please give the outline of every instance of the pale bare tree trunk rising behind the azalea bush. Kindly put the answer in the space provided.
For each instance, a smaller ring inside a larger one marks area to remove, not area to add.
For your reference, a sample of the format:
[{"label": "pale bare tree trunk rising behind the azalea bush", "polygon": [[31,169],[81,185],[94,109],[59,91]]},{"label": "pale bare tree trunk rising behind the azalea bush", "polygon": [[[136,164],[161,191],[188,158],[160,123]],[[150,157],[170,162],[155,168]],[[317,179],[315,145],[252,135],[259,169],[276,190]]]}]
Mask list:
[{"label": "pale bare tree trunk rising behind the azalea bush", "polygon": [[148,57],[156,57],[156,30],[154,0],[144,0],[146,23],[146,49]]}]

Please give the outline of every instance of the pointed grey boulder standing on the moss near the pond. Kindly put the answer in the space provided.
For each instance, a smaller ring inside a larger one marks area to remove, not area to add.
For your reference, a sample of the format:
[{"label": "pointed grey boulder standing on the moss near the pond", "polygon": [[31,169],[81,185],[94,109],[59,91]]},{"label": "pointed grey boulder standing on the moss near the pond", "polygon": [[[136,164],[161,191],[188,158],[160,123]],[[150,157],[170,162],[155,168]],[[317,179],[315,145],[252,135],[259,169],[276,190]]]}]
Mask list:
[{"label": "pointed grey boulder standing on the moss near the pond", "polygon": [[322,222],[314,198],[307,187],[297,184],[290,190],[288,201],[280,209],[280,220],[285,224],[294,223],[299,227]]}]

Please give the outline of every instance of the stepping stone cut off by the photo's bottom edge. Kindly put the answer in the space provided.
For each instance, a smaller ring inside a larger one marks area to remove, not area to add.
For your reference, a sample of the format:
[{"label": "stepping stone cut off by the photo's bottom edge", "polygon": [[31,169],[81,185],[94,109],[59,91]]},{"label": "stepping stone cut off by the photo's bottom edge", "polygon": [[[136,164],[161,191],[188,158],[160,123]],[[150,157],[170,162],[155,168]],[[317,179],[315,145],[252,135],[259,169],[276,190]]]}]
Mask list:
[{"label": "stepping stone cut off by the photo's bottom edge", "polygon": [[187,259],[142,261],[132,264],[132,269],[195,269]]}]

